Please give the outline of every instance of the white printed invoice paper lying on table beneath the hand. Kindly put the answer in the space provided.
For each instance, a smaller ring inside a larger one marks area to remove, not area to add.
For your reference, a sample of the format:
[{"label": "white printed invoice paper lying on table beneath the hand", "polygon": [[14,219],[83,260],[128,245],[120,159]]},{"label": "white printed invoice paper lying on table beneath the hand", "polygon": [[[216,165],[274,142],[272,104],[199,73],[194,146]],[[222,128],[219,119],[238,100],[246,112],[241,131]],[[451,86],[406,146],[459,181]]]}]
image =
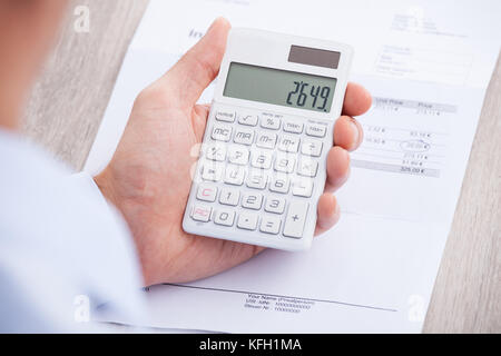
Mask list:
[{"label": "white printed invoice paper lying on table beneath the hand", "polygon": [[[306,253],[266,250],[218,276],[145,293],[149,325],[240,333],[420,332],[489,79],[500,1],[154,0],[86,170],[111,158],[137,93],[218,16],[350,43],[374,96],[338,192],[343,217]],[[212,99],[209,87],[202,101]],[[125,322],[127,320],[117,320]]]}]

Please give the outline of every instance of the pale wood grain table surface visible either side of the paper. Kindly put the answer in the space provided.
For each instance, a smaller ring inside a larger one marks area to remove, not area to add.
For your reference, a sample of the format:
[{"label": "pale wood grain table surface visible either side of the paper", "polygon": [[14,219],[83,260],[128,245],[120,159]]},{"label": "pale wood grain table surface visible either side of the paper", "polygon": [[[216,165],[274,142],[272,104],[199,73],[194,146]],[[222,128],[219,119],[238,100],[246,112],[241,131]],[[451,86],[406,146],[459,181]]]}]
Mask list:
[{"label": "pale wood grain table surface visible either side of the paper", "polygon": [[[77,6],[90,31],[75,31]],[[23,130],[81,169],[147,0],[70,1]],[[472,118],[473,119],[473,118]],[[501,60],[489,86],[425,333],[501,332]]]}]

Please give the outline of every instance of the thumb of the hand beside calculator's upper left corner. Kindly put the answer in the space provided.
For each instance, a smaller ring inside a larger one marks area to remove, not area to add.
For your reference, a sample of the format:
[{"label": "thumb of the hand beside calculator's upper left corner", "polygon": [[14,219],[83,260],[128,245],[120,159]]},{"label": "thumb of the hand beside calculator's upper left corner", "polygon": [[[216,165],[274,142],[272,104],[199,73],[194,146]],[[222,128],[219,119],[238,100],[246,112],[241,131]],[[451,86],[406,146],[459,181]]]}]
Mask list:
[{"label": "thumb of the hand beside calculator's upper left corner", "polygon": [[183,107],[193,107],[202,92],[219,73],[230,24],[216,19],[207,33],[160,79],[171,98]]}]

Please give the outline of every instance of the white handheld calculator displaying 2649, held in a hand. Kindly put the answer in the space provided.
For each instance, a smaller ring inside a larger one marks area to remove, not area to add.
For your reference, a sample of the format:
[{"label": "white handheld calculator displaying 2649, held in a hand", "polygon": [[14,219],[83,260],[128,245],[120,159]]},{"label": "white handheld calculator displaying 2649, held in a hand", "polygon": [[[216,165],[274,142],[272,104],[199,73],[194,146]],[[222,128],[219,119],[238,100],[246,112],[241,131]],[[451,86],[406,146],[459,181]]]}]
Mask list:
[{"label": "white handheld calculator displaying 2649, held in a hand", "polygon": [[230,31],[186,233],[291,251],[311,247],[352,53],[332,41]]}]

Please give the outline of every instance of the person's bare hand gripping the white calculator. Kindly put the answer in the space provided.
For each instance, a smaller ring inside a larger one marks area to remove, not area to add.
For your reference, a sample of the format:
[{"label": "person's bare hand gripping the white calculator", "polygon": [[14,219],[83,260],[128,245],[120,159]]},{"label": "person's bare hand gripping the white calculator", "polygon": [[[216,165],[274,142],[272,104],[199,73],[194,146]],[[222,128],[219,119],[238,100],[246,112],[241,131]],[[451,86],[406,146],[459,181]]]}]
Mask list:
[{"label": "person's bare hand gripping the white calculator", "polygon": [[[216,20],[207,34],[163,78],[136,99],[128,126],[109,166],[95,178],[127,220],[139,254],[145,285],[185,283],[232,268],[258,254],[261,247],[186,234],[183,215],[209,106],[196,105],[217,77],[229,23]],[[352,117],[371,106],[371,96],[350,83],[343,115],[335,123],[327,157],[325,192],[318,201],[316,234],[340,218],[333,191],[348,178],[348,151],[363,130]]]}]

